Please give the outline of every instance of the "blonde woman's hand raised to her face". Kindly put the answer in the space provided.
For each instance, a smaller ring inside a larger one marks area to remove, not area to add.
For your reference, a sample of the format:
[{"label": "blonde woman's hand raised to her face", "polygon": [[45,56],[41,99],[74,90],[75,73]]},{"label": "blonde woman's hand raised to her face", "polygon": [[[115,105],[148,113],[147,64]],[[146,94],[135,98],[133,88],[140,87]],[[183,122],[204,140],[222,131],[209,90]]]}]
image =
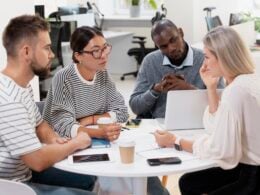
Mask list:
[{"label": "blonde woman's hand raised to her face", "polygon": [[207,86],[207,89],[217,89],[219,77],[213,77],[205,64],[202,64],[200,68],[200,77]]}]

